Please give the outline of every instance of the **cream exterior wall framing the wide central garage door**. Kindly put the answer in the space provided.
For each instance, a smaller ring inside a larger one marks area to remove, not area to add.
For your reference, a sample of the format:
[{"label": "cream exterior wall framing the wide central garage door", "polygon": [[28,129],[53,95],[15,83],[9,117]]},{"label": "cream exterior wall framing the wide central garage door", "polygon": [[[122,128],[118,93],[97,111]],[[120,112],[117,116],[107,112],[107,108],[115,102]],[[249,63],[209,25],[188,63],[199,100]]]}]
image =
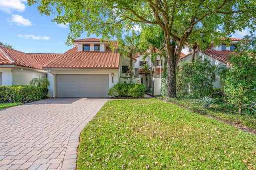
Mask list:
[{"label": "cream exterior wall framing the wide central garage door", "polygon": [[[50,81],[48,97],[55,97],[56,96],[56,88],[55,88],[55,86],[56,86],[56,83],[55,83],[56,74],[89,74],[89,75],[108,74],[109,75],[109,88],[111,88],[112,86],[117,84],[118,81],[119,81],[118,70],[51,70],[51,71],[48,71],[48,73],[49,73],[48,74],[48,80]],[[112,73],[114,74],[113,82],[112,82],[112,77],[111,77]]]}]

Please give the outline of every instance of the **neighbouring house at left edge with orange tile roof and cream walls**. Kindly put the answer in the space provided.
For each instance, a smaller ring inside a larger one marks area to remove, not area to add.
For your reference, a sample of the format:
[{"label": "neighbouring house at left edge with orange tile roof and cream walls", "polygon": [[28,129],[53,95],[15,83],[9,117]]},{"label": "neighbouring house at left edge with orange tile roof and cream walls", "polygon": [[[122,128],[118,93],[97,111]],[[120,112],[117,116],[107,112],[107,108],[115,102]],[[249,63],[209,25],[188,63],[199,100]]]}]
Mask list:
[{"label": "neighbouring house at left edge with orange tile roof and cream walls", "polygon": [[47,76],[43,64],[59,54],[27,54],[0,46],[0,85],[29,85],[38,77]]}]

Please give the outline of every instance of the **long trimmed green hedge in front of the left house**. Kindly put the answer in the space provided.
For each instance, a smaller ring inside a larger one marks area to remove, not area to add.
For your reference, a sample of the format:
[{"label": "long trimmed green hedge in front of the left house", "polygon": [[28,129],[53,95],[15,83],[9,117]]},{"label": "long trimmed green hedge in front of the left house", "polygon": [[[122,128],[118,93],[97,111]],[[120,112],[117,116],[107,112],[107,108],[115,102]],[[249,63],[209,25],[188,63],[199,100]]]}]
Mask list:
[{"label": "long trimmed green hedge in front of the left house", "polygon": [[47,98],[48,89],[36,86],[0,86],[0,103],[33,102]]}]

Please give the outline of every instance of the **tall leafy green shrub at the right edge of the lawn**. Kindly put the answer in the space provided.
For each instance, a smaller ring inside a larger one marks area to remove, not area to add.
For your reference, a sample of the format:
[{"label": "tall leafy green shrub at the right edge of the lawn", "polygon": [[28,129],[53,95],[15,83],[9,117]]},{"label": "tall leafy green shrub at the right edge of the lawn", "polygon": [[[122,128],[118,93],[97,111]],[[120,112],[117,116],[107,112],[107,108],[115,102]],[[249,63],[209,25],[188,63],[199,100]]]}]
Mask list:
[{"label": "tall leafy green shrub at the right edge of the lawn", "polygon": [[256,54],[238,53],[229,60],[231,69],[226,73],[224,91],[228,101],[239,107],[256,99]]}]

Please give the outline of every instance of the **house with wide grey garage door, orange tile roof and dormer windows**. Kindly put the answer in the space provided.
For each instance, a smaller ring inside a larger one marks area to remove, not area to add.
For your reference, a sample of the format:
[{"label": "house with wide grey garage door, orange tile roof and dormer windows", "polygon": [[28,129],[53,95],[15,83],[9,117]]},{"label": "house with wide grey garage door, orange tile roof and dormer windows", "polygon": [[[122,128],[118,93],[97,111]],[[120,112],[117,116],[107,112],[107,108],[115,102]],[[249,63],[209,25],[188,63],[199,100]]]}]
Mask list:
[{"label": "house with wide grey garage door, orange tile roof and dormer windows", "polygon": [[117,41],[86,38],[74,45],[43,66],[50,81],[49,97],[109,97],[109,88],[129,81],[129,58],[110,49]]}]

